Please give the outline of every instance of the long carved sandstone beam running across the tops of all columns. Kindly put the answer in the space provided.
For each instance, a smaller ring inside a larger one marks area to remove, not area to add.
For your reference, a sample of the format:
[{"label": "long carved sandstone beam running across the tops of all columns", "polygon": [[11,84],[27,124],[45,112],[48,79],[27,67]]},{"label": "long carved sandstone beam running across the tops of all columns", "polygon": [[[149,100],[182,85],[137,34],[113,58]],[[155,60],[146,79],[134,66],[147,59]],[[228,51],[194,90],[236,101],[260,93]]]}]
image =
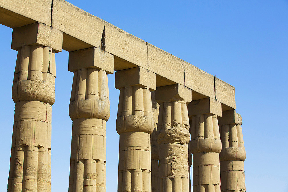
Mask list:
[{"label": "long carved sandstone beam running across the tops of all columns", "polygon": [[115,71],[139,66],[156,74],[157,87],[185,85],[192,100],[213,98],[221,102],[222,111],[236,108],[232,85],[67,1],[0,0],[0,24],[17,28],[35,22],[62,31],[66,51],[100,48],[114,55]]}]

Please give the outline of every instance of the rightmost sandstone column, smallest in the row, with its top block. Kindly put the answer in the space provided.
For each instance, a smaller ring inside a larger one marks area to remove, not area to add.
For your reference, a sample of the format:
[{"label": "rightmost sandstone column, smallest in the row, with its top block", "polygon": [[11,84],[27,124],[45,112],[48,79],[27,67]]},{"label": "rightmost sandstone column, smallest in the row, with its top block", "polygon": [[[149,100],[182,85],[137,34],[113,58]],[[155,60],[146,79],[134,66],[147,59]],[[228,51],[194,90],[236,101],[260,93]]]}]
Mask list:
[{"label": "rightmost sandstone column, smallest in the row, with its top block", "polygon": [[242,118],[235,110],[222,112],[219,118],[222,151],[220,153],[221,191],[245,192],[244,160],[246,152]]}]

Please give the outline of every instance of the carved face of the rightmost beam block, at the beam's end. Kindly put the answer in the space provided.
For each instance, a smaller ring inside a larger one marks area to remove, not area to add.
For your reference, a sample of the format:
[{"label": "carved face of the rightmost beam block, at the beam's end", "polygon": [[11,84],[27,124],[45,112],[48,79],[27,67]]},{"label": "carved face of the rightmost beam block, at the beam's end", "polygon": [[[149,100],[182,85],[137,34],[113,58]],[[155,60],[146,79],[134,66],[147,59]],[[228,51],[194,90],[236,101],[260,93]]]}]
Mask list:
[{"label": "carved face of the rightmost beam block, at the beam's end", "polygon": [[235,88],[215,77],[215,96],[217,101],[236,109]]}]

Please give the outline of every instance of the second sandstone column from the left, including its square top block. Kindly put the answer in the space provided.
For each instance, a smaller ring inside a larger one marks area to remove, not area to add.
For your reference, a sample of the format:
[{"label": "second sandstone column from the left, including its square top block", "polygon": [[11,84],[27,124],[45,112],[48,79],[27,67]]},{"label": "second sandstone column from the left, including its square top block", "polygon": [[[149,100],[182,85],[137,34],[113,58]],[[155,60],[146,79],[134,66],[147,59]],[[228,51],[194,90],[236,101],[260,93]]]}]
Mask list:
[{"label": "second sandstone column from the left, including its square top block", "polygon": [[74,72],[69,192],[106,191],[107,74],[113,63],[113,55],[94,47],[69,53],[68,70]]}]

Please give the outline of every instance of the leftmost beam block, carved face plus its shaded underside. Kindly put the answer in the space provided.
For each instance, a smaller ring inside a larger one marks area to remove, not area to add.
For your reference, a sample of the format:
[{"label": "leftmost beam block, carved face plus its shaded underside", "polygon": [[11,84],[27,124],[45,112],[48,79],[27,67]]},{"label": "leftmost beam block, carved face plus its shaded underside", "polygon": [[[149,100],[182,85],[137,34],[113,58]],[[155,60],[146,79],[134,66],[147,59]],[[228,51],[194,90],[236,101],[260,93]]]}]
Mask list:
[{"label": "leftmost beam block, carved face plus its shaded underside", "polygon": [[41,22],[51,23],[52,0],[0,0],[0,24],[11,28]]}]

